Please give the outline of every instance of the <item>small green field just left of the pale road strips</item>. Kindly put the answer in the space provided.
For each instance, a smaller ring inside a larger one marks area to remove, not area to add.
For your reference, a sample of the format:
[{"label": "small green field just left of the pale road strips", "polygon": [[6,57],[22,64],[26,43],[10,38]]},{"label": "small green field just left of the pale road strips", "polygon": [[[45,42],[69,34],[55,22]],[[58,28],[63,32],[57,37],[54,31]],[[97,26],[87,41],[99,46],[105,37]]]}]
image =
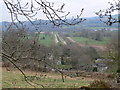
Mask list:
[{"label": "small green field just left of the pale road strips", "polygon": [[54,37],[53,35],[39,34],[39,41],[43,45],[50,46],[54,44]]}]

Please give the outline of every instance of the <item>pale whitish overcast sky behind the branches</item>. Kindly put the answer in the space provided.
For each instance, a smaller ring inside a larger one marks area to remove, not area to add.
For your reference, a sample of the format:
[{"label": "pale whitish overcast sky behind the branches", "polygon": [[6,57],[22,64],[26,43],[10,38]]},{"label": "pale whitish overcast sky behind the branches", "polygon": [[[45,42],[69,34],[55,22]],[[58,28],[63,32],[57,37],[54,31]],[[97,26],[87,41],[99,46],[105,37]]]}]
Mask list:
[{"label": "pale whitish overcast sky behind the branches", "polygon": [[[21,0],[23,4],[25,3],[25,1],[30,0]],[[113,2],[113,0],[47,0],[47,1],[54,2],[56,8],[65,3],[64,11],[66,13],[70,12],[68,18],[78,15],[82,8],[84,8],[82,17],[94,17],[96,16],[95,12],[99,11],[100,9],[103,10],[108,8],[109,7],[108,2]],[[0,13],[1,13],[0,22],[11,21],[10,14],[8,12],[9,11],[7,10],[5,4],[3,3],[3,0],[0,0]],[[40,19],[46,19],[45,16],[41,13],[39,13],[36,17]],[[20,19],[25,20],[25,18],[23,17],[20,17]]]}]

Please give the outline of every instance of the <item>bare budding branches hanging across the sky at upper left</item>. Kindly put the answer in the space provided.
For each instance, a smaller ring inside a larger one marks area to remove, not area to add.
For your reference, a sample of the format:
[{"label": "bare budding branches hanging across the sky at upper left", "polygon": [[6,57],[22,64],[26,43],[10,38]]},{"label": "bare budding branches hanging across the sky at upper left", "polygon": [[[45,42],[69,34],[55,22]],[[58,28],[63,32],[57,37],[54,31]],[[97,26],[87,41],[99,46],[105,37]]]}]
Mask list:
[{"label": "bare budding branches hanging across the sky at upper left", "polygon": [[[84,9],[80,11],[80,14],[77,15],[76,18],[71,20],[67,19],[67,16],[70,14],[70,12],[64,15],[65,12],[63,11],[63,8],[65,4],[61,5],[61,7],[58,9],[54,9],[54,3],[50,3],[46,0],[31,0],[31,2],[27,2],[24,6],[21,4],[20,0],[16,0],[14,2],[10,2],[9,0],[3,1],[11,14],[11,20],[13,24],[15,24],[15,21],[18,21],[21,25],[23,25],[23,22],[19,20],[19,16],[24,16],[28,21],[35,25],[32,21],[36,20],[36,15],[39,11],[42,11],[46,18],[54,26],[76,25],[85,20],[80,18]],[[63,15],[60,16],[62,13]]]}]

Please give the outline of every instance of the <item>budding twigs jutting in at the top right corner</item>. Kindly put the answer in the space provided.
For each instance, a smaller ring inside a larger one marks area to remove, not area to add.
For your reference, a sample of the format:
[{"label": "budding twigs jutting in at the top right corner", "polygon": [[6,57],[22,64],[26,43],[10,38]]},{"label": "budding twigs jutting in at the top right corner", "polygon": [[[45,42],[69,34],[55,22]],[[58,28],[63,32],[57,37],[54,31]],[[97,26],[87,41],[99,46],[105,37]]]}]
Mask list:
[{"label": "budding twigs jutting in at the top right corner", "polygon": [[[100,10],[96,12],[96,15],[100,17],[100,21],[105,24],[111,26],[114,23],[120,23],[120,0],[114,1],[114,3],[110,3],[110,7],[105,10]],[[118,12],[118,17],[113,17],[112,14],[114,12]]]}]

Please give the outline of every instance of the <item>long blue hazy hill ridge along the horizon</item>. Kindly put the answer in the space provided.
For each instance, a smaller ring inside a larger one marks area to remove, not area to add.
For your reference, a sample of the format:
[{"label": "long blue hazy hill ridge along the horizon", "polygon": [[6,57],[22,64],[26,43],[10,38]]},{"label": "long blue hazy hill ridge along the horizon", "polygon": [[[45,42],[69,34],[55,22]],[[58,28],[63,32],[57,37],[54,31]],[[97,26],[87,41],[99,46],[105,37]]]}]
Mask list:
[{"label": "long blue hazy hill ridge along the horizon", "polygon": [[[118,15],[114,15],[113,17],[118,17]],[[113,24],[112,26],[108,26],[105,23],[100,21],[99,17],[91,17],[91,18],[86,18],[86,21],[75,25],[75,26],[63,26],[62,28],[60,27],[54,27],[48,20],[41,20],[41,21],[33,21],[33,23],[35,24],[39,24],[37,25],[37,28],[32,25],[30,22],[25,21],[24,22],[24,26],[26,29],[29,29],[30,31],[34,32],[36,31],[36,29],[38,29],[39,31],[74,31],[74,30],[80,30],[83,28],[89,28],[89,29],[100,29],[100,28],[117,28],[118,24]],[[43,24],[44,23],[44,24]],[[47,23],[47,24],[45,24]],[[9,25],[11,24],[11,22],[0,22],[0,29],[2,30],[7,30],[7,28],[9,27]],[[21,25],[19,25],[19,23],[16,23],[19,27],[21,27]],[[12,28],[15,28],[15,26],[12,26]]]}]

